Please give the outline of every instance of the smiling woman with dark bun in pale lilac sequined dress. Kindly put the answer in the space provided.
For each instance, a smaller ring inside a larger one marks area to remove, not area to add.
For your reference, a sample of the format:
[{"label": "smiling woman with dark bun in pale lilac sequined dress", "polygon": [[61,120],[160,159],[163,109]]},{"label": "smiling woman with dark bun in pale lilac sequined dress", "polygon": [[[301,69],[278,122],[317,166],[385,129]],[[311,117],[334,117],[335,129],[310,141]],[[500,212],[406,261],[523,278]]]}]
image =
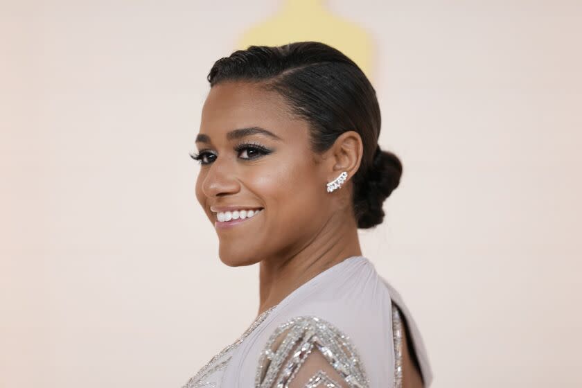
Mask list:
[{"label": "smiling woman with dark bun in pale lilac sequined dress", "polygon": [[364,256],[402,166],[380,150],[376,91],[319,42],[215,62],[196,138],[197,200],[220,260],[259,263],[258,317],[184,387],[428,387],[403,300]]}]

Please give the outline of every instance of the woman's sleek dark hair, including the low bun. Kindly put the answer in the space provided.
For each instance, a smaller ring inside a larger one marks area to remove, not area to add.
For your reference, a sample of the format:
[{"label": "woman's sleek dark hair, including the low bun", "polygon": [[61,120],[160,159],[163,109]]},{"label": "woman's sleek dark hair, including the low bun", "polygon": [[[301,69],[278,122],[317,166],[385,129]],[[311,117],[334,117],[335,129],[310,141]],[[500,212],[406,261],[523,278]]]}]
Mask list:
[{"label": "woman's sleek dark hair, including the low bun", "polygon": [[256,81],[279,92],[290,112],[310,123],[314,152],[328,150],[343,132],[358,132],[364,152],[353,176],[355,219],[361,229],[382,222],[382,202],[398,187],[402,164],[380,150],[376,90],[355,62],[320,42],[249,46],[216,61],[208,80],[211,87],[225,80]]}]

